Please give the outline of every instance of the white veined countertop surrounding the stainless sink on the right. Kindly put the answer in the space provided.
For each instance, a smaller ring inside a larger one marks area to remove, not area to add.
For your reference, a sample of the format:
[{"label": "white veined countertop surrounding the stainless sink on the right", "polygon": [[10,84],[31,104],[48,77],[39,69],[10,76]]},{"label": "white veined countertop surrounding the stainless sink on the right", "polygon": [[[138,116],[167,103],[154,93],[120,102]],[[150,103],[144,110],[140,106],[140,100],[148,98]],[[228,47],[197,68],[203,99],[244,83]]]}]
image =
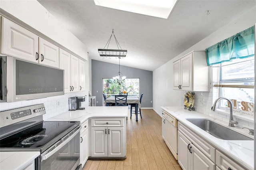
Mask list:
[{"label": "white veined countertop surrounding the stainless sink on the right", "polygon": [[227,123],[222,122],[213,117],[198,113],[196,111],[188,111],[183,107],[161,107],[164,111],[170,113],[173,117],[178,119],[180,123],[189,127],[196,134],[208,141],[216,149],[220,150],[230,158],[235,160],[238,164],[244,166],[248,170],[254,170],[254,140],[222,140],[208,134],[201,128],[190,123],[186,119],[204,118],[214,121],[226,128],[230,128],[236,132],[242,133],[245,136],[254,138],[254,136],[248,134],[248,130],[239,127],[228,127]]}]

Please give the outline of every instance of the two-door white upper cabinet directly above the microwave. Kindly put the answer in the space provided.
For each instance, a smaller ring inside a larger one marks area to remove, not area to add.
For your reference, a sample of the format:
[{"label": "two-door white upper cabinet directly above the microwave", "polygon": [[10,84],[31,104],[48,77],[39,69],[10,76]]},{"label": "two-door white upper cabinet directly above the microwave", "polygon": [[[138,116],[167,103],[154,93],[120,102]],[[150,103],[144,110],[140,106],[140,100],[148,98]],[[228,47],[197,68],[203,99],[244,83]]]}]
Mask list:
[{"label": "two-door white upper cabinet directly above the microwave", "polygon": [[22,26],[1,17],[1,53],[59,67],[59,48]]}]

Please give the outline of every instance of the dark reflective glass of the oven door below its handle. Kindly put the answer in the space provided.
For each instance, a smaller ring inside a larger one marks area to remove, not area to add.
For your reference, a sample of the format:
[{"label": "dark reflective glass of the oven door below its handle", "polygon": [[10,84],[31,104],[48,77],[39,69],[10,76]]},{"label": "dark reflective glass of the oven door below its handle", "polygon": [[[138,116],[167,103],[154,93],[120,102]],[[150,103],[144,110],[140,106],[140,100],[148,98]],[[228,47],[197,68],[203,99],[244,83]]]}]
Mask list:
[{"label": "dark reflective glass of the oven door below its handle", "polygon": [[57,150],[52,156],[41,161],[41,170],[74,170],[80,164],[80,133]]}]

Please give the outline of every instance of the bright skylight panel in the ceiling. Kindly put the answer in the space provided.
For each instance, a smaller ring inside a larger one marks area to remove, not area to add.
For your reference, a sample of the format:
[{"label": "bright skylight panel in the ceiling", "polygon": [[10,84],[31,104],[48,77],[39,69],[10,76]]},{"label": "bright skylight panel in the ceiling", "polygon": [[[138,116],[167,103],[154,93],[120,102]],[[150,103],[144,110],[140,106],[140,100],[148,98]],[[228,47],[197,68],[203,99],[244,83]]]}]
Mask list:
[{"label": "bright skylight panel in the ceiling", "polygon": [[94,0],[98,6],[167,19],[178,0]]}]

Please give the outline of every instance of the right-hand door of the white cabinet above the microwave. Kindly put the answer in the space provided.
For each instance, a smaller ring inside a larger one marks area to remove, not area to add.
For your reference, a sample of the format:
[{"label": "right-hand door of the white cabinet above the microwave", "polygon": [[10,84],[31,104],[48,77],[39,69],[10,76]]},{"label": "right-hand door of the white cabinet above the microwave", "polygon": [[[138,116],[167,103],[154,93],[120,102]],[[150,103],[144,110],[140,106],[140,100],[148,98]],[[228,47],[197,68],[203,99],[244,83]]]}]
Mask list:
[{"label": "right-hand door of the white cabinet above the microwave", "polygon": [[39,38],[39,63],[59,68],[59,47]]}]

